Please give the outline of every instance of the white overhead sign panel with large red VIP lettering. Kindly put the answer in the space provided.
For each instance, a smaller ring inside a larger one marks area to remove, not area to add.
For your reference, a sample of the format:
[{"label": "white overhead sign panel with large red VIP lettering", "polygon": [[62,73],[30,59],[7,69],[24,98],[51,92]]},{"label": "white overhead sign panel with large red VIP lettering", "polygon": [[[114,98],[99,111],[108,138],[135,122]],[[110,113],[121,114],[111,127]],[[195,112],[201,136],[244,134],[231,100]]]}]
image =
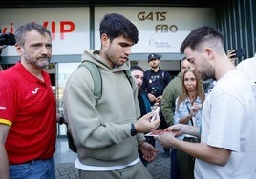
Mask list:
[{"label": "white overhead sign panel with large red VIP lettering", "polygon": [[[90,48],[89,8],[0,9],[0,16],[2,33],[14,33],[28,22],[36,22],[50,30],[53,55],[81,54]],[[3,50],[3,56],[17,56],[17,52],[8,47]]]}]

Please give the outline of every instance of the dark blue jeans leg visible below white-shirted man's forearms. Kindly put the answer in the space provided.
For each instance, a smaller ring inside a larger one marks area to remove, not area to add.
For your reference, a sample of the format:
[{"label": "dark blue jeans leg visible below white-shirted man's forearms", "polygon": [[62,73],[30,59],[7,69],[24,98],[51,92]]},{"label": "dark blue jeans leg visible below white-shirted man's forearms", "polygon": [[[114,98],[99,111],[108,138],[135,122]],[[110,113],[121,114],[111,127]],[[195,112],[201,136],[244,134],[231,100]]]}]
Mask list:
[{"label": "dark blue jeans leg visible below white-shirted man's forearms", "polygon": [[181,179],[181,170],[177,159],[177,149],[171,151],[171,179]]}]

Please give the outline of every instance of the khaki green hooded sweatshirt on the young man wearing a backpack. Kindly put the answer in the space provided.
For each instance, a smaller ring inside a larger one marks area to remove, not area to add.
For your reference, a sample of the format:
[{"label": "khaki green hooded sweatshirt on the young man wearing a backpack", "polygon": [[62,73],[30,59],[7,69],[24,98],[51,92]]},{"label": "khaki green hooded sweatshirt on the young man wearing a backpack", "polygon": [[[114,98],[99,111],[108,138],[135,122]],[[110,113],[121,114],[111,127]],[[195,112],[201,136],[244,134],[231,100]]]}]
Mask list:
[{"label": "khaki green hooded sweatshirt on the young man wearing a backpack", "polygon": [[112,69],[98,50],[86,50],[81,61],[95,63],[102,76],[102,97],[96,105],[94,81],[85,67],[70,76],[64,92],[65,117],[69,121],[81,163],[90,166],[126,165],[139,157],[143,134],[131,136],[131,123],[139,118],[138,89],[131,86],[124,65]]}]

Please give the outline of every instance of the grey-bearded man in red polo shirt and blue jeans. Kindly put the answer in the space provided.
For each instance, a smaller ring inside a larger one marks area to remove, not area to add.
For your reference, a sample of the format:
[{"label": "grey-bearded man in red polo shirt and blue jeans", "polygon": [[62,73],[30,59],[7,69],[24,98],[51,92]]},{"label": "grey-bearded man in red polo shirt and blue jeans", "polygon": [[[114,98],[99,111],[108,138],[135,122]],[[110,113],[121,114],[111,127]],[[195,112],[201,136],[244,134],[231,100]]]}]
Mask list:
[{"label": "grey-bearded man in red polo shirt and blue jeans", "polygon": [[43,70],[52,57],[49,30],[28,23],[15,31],[20,61],[0,72],[1,178],[55,178],[55,97]]}]

